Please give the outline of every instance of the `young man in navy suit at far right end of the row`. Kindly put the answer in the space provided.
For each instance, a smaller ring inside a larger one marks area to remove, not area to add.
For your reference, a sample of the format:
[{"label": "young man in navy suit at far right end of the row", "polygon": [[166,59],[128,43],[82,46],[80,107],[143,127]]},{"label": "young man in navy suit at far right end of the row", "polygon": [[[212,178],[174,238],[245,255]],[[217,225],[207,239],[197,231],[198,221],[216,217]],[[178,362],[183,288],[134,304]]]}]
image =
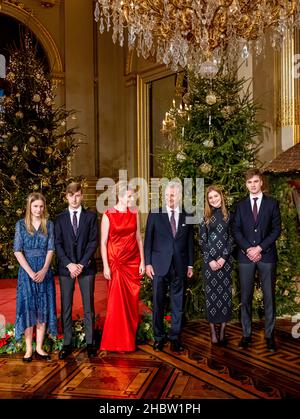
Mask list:
[{"label": "young man in navy suit at far right end of the row", "polygon": [[239,347],[247,348],[252,342],[252,299],[258,271],[264,298],[267,349],[274,351],[276,240],[281,232],[281,217],[278,202],[262,193],[260,171],[251,169],[245,177],[250,195],[238,203],[233,220],[233,235],[238,245],[243,328]]}]

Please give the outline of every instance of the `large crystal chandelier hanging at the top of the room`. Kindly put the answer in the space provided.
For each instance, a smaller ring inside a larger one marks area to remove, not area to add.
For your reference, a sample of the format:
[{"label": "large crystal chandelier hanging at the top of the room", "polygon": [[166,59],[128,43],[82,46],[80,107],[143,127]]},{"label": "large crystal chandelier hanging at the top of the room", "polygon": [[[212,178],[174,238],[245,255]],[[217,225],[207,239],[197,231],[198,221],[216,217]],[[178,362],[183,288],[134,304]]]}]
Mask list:
[{"label": "large crystal chandelier hanging at the top of the room", "polygon": [[97,0],[94,14],[121,46],[126,29],[138,56],[208,77],[224,57],[260,54],[267,30],[275,47],[300,26],[299,0]]}]

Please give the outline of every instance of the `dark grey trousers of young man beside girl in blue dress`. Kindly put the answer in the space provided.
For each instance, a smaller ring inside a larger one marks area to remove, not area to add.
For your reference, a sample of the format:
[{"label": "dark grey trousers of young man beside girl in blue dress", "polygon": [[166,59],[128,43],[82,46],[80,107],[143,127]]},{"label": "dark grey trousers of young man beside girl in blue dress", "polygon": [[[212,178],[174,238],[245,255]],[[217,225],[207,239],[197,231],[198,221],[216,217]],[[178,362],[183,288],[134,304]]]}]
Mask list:
[{"label": "dark grey trousers of young man beside girl in blue dress", "polygon": [[[70,276],[60,276],[61,317],[64,333],[64,345],[72,344],[72,306],[76,279]],[[94,275],[79,275],[78,277],[84,310],[85,340],[88,345],[94,344]]]}]

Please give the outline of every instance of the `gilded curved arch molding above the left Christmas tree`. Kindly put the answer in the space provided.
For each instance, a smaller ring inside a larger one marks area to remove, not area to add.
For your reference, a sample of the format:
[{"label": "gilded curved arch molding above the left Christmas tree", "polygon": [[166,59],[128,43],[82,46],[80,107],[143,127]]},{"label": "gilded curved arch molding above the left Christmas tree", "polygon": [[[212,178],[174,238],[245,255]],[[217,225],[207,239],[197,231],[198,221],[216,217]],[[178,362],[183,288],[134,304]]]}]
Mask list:
[{"label": "gilded curved arch molding above the left Christmas tree", "polygon": [[58,83],[64,79],[62,60],[58,48],[44,25],[33,15],[32,10],[24,9],[21,5],[0,2],[0,13],[13,17],[27,26],[40,41],[49,60],[52,78]]}]

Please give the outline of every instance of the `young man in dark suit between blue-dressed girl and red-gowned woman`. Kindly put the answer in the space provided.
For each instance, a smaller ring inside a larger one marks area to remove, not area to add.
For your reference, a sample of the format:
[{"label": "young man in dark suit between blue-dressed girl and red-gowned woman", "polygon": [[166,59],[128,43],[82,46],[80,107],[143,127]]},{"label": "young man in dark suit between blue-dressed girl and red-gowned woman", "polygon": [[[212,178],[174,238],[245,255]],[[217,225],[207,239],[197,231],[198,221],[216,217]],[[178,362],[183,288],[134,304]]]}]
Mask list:
[{"label": "young man in dark suit between blue-dressed girl and red-gowned woman", "polygon": [[61,315],[64,346],[59,359],[72,352],[72,305],[75,280],[78,278],[83,309],[88,357],[96,355],[94,342],[94,283],[96,262],[93,257],[98,247],[98,220],[96,213],[82,206],[80,183],[70,183],[66,189],[68,209],[55,222],[55,248],[61,290]]}]

